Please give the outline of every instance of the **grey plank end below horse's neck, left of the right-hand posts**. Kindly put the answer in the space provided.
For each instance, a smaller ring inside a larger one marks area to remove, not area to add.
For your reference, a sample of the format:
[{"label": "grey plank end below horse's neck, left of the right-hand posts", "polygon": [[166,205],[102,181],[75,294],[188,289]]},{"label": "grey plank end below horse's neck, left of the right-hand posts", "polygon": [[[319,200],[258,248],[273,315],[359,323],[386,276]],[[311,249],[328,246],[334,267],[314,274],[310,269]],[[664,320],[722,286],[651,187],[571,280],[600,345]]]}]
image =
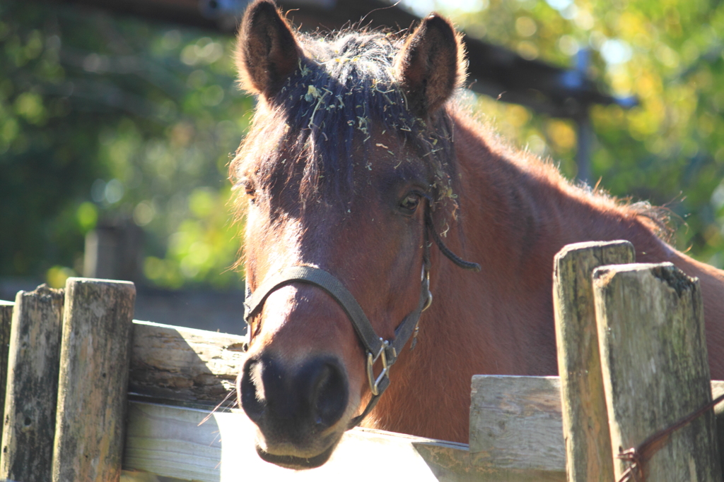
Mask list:
[{"label": "grey plank end below horse's neck, left of the right-hand posts", "polygon": [[535,470],[565,479],[557,376],[475,375],[470,409],[473,465]]}]

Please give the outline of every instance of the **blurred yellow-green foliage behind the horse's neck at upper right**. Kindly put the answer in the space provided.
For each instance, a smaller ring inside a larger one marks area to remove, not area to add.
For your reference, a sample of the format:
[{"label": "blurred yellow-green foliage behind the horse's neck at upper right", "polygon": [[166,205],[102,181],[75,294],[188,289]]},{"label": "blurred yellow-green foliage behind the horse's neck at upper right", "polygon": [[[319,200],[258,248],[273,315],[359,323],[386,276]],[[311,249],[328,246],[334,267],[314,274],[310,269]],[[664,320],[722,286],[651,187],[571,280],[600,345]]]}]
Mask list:
[{"label": "blurred yellow-green foliage behind the horse's neck at upper right", "polygon": [[[575,64],[587,51],[593,77],[615,95],[641,100],[631,111],[592,109],[592,178],[616,196],[667,206],[684,221],[673,239],[678,248],[724,267],[724,3],[439,0],[427,7],[528,59]],[[476,108],[505,137],[576,176],[573,122],[489,98]]]}]

